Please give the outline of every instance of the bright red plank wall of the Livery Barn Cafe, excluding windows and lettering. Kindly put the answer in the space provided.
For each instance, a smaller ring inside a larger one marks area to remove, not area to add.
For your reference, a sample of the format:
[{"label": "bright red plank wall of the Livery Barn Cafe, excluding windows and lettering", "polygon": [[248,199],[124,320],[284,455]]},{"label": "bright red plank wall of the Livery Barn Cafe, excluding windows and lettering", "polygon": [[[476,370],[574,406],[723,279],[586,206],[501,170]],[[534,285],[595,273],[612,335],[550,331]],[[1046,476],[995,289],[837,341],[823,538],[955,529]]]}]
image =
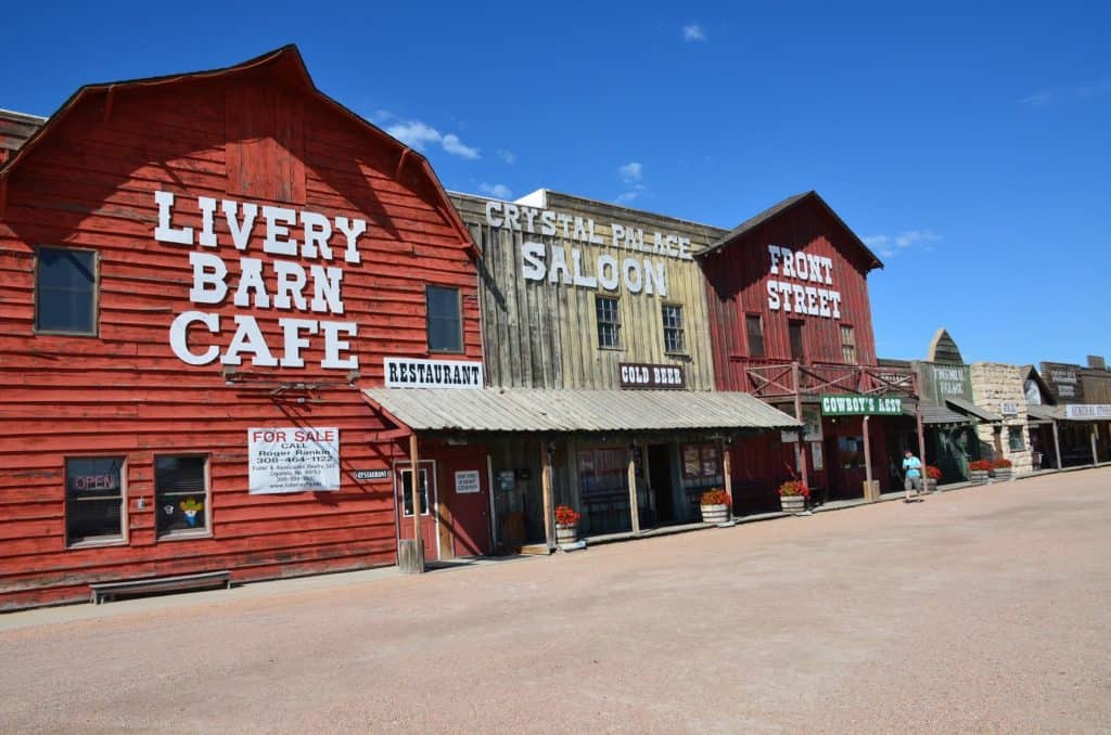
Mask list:
[{"label": "bright red plank wall of the Livery Barn Cafe, excluding windows and lettering", "polygon": [[[173,316],[204,306],[189,301],[189,248],[153,239],[153,192],[176,192],[182,204],[176,223],[199,226],[197,197],[228,197],[230,152],[258,145],[226,137],[226,100],[262,92],[298,110],[286,121],[303,125],[294,135],[303,141],[303,152],[270,139],[264,155],[280,160],[256,160],[251,175],[300,170],[303,180],[284,191],[301,192],[309,210],[367,220],[362,263],[343,264],[346,314],[339,318],[359,323],[359,335],[351,340],[361,368],[358,387],[382,384],[386,355],[428,356],[429,282],[462,290],[466,354],[460,356],[481,360],[474,266],[432,203],[427,179],[396,179],[396,147],[311,92],[264,75],[253,80],[261,90],[236,90],[228,79],[120,88],[107,118],[102,99],[88,100],[11,172],[0,219],[0,422],[6,430],[0,440],[0,608],[80,600],[87,596],[84,585],[98,580],[232,568],[238,581],[394,562],[391,484],[362,484],[351,473],[388,467],[404,447],[376,442],[382,426],[358,390],[346,385],[346,372],[319,368],[320,340],[304,350],[306,369],[268,373],[244,365],[250,380],[236,386],[224,384],[219,363],[193,368],[171,352]],[[232,113],[238,115],[234,108]],[[294,159],[299,165],[291,167]],[[257,183],[246,199],[261,204],[267,200],[259,194],[291,182]],[[243,254],[269,260],[261,252],[261,220]],[[294,228],[291,234],[300,240],[302,233]],[[214,252],[229,266],[238,263],[219,217],[218,240]],[[34,334],[38,244],[99,253],[98,336]],[[273,289],[269,270],[267,283]],[[224,331],[213,339],[222,339],[222,345],[231,339],[233,315],[241,313],[257,316],[270,343],[280,345],[277,319],[290,313],[227,302],[209,309],[221,314]],[[256,380],[337,384],[312,394],[322,402],[299,404],[251,387]],[[249,495],[248,427],[294,424],[340,429],[341,492]],[[210,538],[156,538],[152,463],[161,453],[209,455]],[[80,455],[127,457],[126,544],[67,548],[63,467],[67,456]],[[140,495],[148,501],[144,510],[138,507]]]}]

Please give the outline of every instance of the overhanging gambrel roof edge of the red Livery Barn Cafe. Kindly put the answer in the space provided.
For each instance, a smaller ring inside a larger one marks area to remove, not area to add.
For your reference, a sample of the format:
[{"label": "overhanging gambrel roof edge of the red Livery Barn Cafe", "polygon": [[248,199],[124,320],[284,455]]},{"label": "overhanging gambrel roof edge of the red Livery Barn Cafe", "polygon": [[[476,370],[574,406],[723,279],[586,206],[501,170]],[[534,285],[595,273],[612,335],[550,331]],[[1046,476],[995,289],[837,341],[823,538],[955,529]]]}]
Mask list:
[{"label": "overhanging gambrel roof edge of the red Livery Barn Cafe", "polygon": [[[452,229],[457,231],[460,242],[467,246],[470,254],[472,256],[478,255],[478,249],[474,246],[467,226],[463,224],[462,219],[460,219],[459,212],[457,212],[456,208],[452,207],[451,201],[448,199],[448,193],[443,189],[443,184],[440,183],[436,172],[432,171],[432,167],[429,164],[428,159],[398,139],[393,138],[381,128],[371,124],[362,117],[356,114],[347,107],[321,92],[312,81],[312,77],[309,74],[309,70],[304,66],[304,59],[301,58],[301,52],[298,50],[297,46],[292,43],[263,53],[260,57],[249,59],[242,63],[223,67],[221,69],[184,72],[180,74],[166,74],[162,77],[148,77],[143,79],[131,79],[118,82],[86,84],[81,87],[73,92],[68,100],[66,100],[57,112],[47,118],[46,124],[34,131],[22,144],[22,147],[16,150],[14,154],[8,161],[0,163],[0,204],[3,202],[3,188],[7,184],[7,180],[11,171],[14,170],[23,159],[31,154],[40,141],[48,139],[53,130],[62,124],[70,113],[78,105],[84,103],[86,100],[104,95],[104,109],[107,114],[108,111],[111,110],[114,93],[120,90],[143,87],[160,87],[190,80],[232,78],[244,75],[249,72],[258,70],[268,70],[274,74],[281,75],[283,82],[288,84],[291,83],[294,88],[299,88],[306,93],[316,95],[326,105],[331,107],[333,110],[349,118],[356,124],[364,128],[368,133],[381,138],[383,143],[392,147],[398,153],[397,175],[400,175],[402,169],[407,165],[416,163],[420,175],[427,178],[429,183],[432,185],[433,195],[437,199],[434,204],[437,209],[440,210],[441,215],[444,217]],[[0,209],[0,214],[2,214],[2,209]]]}]

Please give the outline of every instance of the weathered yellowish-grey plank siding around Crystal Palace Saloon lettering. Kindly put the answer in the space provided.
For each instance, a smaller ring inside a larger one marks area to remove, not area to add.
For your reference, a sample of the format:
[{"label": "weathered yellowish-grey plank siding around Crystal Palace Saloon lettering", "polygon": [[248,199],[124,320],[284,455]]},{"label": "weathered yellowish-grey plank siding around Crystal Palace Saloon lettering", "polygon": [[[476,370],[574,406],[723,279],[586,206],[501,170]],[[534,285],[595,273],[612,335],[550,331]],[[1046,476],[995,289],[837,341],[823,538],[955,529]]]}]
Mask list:
[{"label": "weathered yellowish-grey plank siding around Crystal Palace Saloon lettering", "polygon": [[[452,200],[482,250],[479,273],[486,371],[490,385],[618,389],[621,383],[618,365],[640,362],[681,365],[689,389],[713,389],[704,286],[698,263],[613,248],[612,224],[642,229],[649,242],[657,231],[689,238],[694,252],[724,231],[548,192],[542,209],[594,221],[594,234],[605,244],[589,244],[564,238],[562,228],[557,235],[542,235],[539,219],[534,221],[534,233],[526,231],[523,217],[520,230],[491,226],[486,213],[487,202],[491,200],[467,194],[452,194]],[[526,280],[521,245],[527,241],[546,245],[549,264],[552,248],[563,248],[569,264],[571,250],[579,250],[583,270],[592,275],[598,274],[599,254],[610,254],[619,261],[635,258],[662,263],[667,271],[667,295],[650,295],[643,291],[630,293],[623,282],[618,290],[607,291],[601,285],[595,290],[551,283],[547,279],[542,282]],[[594,299],[600,294],[618,298],[621,311],[619,350],[598,345]],[[663,303],[682,306],[684,354],[664,351]]]}]

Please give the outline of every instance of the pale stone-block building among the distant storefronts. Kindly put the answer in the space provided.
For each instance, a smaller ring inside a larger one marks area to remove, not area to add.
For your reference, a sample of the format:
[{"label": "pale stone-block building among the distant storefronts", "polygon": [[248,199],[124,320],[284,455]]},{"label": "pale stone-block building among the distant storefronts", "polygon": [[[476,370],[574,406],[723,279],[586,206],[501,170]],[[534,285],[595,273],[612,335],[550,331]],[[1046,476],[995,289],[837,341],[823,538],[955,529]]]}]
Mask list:
[{"label": "pale stone-block building among the distant storefronts", "polygon": [[1015,475],[1033,471],[1032,453],[1027,435],[1027,396],[1024,373],[1019,365],[999,362],[977,362],[969,366],[973,400],[1003,416],[1002,424],[980,424],[981,455],[1011,461]]}]

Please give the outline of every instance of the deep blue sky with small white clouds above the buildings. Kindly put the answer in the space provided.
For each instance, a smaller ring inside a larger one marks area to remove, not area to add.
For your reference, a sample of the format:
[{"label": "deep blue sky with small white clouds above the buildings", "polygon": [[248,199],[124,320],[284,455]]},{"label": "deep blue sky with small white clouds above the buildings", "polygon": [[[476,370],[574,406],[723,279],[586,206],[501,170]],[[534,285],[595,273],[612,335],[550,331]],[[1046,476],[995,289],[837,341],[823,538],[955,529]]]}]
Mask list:
[{"label": "deep blue sky with small white clouds above the buildings", "polygon": [[[830,6],[842,6],[840,9]],[[449,189],[733,226],[817,189],[884,260],[882,356],[1111,356],[1107,3],[17,3],[0,107],[297,43]]]}]

